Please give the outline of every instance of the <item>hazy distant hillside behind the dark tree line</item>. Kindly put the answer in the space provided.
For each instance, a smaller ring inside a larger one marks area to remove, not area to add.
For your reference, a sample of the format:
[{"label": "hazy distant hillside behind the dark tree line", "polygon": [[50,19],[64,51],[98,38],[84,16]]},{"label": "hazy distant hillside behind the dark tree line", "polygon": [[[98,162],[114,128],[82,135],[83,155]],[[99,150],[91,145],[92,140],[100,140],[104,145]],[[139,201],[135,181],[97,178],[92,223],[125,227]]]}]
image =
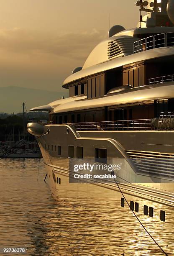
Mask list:
[{"label": "hazy distant hillside behind the dark tree line", "polygon": [[49,102],[58,100],[61,96],[67,97],[68,90],[65,92],[51,92],[24,87],[0,87],[0,112],[19,113],[22,112],[22,103],[26,103],[27,111]]}]

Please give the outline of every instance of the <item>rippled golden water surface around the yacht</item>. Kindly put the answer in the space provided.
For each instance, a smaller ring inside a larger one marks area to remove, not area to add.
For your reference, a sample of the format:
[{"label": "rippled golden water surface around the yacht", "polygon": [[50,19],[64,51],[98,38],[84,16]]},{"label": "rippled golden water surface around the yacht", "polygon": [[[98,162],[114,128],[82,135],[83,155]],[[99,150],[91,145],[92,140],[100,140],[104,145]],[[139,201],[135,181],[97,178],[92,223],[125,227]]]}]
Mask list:
[{"label": "rippled golden water surface around the yacht", "polygon": [[[164,255],[137,220],[123,217],[116,207],[110,206],[108,213],[108,205],[99,211],[93,203],[90,210],[74,210],[66,201],[70,191],[55,201],[44,182],[43,160],[39,173],[38,164],[38,159],[0,160],[0,247],[26,246],[28,255],[46,256]],[[165,233],[159,224],[154,230],[154,224],[149,223],[148,230],[174,255],[173,228]]]}]

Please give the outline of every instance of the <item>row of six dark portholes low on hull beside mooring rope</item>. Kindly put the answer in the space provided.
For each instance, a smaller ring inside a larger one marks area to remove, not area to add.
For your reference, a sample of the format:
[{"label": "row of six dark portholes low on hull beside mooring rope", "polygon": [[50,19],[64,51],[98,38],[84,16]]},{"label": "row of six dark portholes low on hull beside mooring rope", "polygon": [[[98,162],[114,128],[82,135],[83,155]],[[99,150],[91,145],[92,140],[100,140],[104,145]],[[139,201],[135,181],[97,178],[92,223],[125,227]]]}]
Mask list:
[{"label": "row of six dark portholes low on hull beside mooring rope", "polygon": [[[124,198],[121,198],[121,207],[125,207],[125,199]],[[130,210],[132,210],[132,211],[135,210],[135,212],[139,212],[139,203],[135,202],[135,204],[134,204],[133,201],[130,201]],[[144,215],[153,218],[154,217],[154,208],[151,206],[148,207],[147,205],[144,205],[143,213],[144,213]],[[165,211],[163,211],[163,210],[160,211],[160,220],[165,221]]]}]

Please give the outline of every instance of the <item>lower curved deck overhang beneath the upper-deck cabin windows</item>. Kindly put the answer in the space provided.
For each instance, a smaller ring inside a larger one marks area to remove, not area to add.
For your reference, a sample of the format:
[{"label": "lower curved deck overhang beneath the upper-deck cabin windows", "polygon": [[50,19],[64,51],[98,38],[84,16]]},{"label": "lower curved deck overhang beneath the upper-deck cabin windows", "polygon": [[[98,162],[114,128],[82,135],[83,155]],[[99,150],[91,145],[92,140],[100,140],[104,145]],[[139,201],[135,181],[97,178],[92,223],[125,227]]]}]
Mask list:
[{"label": "lower curved deck overhang beneath the upper-deck cabin windows", "polygon": [[131,103],[138,104],[138,102],[170,98],[174,98],[174,82],[164,82],[162,84],[146,85],[127,89],[122,92],[110,93],[104,97],[94,99],[74,98],[74,101],[71,100],[54,108],[53,113],[64,113]]}]

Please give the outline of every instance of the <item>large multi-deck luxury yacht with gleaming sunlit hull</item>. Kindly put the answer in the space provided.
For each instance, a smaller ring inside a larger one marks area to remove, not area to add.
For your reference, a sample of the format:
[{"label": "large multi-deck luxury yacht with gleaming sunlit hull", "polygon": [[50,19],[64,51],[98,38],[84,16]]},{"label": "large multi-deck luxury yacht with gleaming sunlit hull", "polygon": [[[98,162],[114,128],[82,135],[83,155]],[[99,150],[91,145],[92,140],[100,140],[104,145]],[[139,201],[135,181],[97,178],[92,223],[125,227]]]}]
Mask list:
[{"label": "large multi-deck luxury yacht with gleaming sunlit hull", "polygon": [[49,125],[28,123],[28,132],[38,137],[51,190],[59,196],[72,189],[75,200],[102,187],[112,195],[115,191],[120,209],[124,207],[114,180],[69,184],[74,164],[105,159],[121,164],[115,174],[131,209],[169,230],[167,215],[174,207],[174,1],[137,5],[147,12],[138,28],[113,26],[84,66],[65,79],[69,97],[32,109],[49,111]]}]

